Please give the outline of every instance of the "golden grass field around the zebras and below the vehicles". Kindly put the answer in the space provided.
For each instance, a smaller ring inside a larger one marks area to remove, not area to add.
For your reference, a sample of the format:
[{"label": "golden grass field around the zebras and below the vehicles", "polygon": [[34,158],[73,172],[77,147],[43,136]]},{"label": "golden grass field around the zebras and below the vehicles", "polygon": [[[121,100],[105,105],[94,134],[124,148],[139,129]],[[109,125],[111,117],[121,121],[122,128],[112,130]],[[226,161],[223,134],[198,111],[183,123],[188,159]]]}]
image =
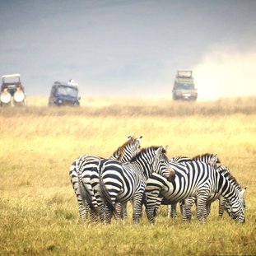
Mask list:
[{"label": "golden grass field around the zebras and below the vehicles", "polygon": [[[0,255],[255,255],[256,97],[214,102],[82,99],[48,108],[29,98],[0,109]],[[248,189],[246,222],[212,205],[207,224],[167,219],[156,225],[81,223],[68,170],[82,154],[109,157],[128,134],[142,147],[168,145],[168,156],[216,153]]]}]

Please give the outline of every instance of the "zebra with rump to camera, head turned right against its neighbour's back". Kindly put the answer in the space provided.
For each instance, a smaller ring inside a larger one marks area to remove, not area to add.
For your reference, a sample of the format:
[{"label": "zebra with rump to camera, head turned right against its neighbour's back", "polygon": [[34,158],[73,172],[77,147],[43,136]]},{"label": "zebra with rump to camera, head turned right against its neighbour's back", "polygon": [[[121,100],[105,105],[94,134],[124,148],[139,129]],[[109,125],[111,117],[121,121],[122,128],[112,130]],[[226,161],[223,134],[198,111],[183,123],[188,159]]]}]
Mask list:
[{"label": "zebra with rump to camera, head turned right against its neighbour's back", "polygon": [[131,162],[125,164],[112,160],[100,161],[100,191],[105,205],[106,224],[110,223],[115,214],[116,202],[129,200],[133,201],[133,223],[139,223],[147,179],[153,172],[166,178],[175,175],[165,155],[166,149],[167,147],[143,148]]}]

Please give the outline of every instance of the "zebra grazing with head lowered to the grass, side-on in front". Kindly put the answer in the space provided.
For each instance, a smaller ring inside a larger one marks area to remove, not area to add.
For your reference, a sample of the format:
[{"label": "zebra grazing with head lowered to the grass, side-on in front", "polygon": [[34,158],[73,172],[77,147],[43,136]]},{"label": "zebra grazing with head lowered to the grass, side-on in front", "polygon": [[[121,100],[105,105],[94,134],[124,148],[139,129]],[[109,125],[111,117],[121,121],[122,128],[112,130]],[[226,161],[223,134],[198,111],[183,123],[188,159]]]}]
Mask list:
[{"label": "zebra grazing with head lowered to the grass, side-on in front", "polygon": [[207,221],[207,198],[218,193],[226,198],[227,212],[235,220],[244,222],[244,189],[236,189],[225,175],[215,167],[202,161],[188,161],[182,164],[170,163],[175,170],[175,179],[169,181],[158,174],[147,179],[145,189],[146,212],[150,223],[155,221],[156,201],[161,193],[162,204],[176,203],[185,198],[197,198],[197,218],[202,223]]}]

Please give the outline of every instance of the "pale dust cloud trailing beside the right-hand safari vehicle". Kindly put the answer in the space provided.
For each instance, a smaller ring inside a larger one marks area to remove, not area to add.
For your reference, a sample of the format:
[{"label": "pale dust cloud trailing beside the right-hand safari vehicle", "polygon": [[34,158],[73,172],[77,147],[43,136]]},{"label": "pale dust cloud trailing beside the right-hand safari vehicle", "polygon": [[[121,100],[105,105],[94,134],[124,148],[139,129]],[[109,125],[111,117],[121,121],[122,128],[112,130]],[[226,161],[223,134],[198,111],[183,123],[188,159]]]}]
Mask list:
[{"label": "pale dust cloud trailing beside the right-hand safari vehicle", "polygon": [[256,95],[256,51],[212,49],[193,67],[198,100]]}]

